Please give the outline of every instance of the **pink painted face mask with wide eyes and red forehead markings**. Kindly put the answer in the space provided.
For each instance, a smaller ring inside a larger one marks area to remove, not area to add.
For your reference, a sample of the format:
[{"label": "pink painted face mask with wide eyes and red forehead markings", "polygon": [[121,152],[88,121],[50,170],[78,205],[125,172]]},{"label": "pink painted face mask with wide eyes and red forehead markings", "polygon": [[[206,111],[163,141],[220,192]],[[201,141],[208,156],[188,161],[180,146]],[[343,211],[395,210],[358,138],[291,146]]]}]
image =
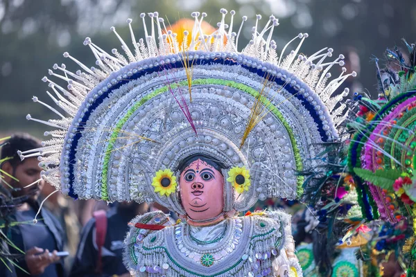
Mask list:
[{"label": "pink painted face mask with wide eyes and red forehead markings", "polygon": [[180,197],[187,215],[193,220],[216,217],[224,207],[224,177],[213,166],[198,159],[180,174]]}]

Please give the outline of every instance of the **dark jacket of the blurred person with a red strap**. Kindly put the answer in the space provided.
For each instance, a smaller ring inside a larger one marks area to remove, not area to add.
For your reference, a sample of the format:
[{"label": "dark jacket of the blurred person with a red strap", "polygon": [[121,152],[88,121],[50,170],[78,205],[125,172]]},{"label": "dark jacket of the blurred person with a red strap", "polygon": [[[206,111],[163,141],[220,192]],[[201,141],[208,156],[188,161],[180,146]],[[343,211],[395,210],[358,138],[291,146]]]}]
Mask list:
[{"label": "dark jacket of the blurred person with a red strap", "polygon": [[96,221],[94,218],[85,224],[70,277],[113,276],[127,273],[123,264],[123,242],[128,231],[128,222],[135,213],[119,205],[107,211],[107,233],[102,251],[102,274],[96,273],[98,247],[96,245]]}]

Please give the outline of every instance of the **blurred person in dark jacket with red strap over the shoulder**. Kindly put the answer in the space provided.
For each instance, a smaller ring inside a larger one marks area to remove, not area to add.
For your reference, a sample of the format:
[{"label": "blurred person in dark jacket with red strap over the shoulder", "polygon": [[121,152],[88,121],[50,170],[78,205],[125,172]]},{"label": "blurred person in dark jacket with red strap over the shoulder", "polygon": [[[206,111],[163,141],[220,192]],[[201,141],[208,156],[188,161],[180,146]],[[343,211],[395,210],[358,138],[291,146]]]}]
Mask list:
[{"label": "blurred person in dark jacket with red strap over the shoulder", "polygon": [[[98,204],[99,205],[99,204]],[[147,204],[122,202],[107,211],[98,209],[81,233],[71,277],[128,277],[123,264],[123,242],[128,222],[148,211]]]}]

